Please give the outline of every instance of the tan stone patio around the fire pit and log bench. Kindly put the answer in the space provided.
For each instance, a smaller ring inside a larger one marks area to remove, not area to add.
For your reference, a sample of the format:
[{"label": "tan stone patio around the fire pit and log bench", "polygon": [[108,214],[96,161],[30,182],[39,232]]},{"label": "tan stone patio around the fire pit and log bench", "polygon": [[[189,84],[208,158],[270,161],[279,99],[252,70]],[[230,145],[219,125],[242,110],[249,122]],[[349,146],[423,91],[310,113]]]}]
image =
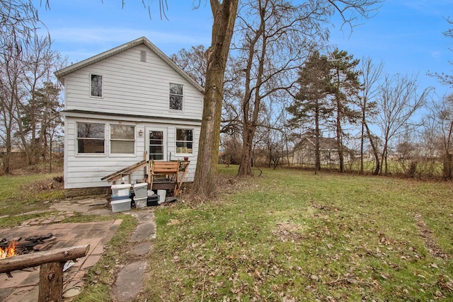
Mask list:
[{"label": "tan stone patio around the fire pit and log bench", "polygon": [[[59,223],[64,217],[74,215],[74,211],[82,214],[111,214],[105,207],[105,199],[84,199],[76,202],[58,202],[52,209],[64,211],[47,216],[45,219],[30,219],[15,228],[1,228],[0,238],[25,238],[27,236],[52,233],[57,240],[54,248],[68,248],[76,245],[90,245],[85,257],[77,259],[65,272],[63,277],[63,293],[66,296],[78,294],[83,289],[84,276],[88,269],[101,259],[104,246],[115,234],[122,219],[88,222]],[[31,267],[11,272],[12,278],[0,274],[0,301],[32,302],[38,300],[39,267]],[[70,298],[68,300],[71,300]]]}]

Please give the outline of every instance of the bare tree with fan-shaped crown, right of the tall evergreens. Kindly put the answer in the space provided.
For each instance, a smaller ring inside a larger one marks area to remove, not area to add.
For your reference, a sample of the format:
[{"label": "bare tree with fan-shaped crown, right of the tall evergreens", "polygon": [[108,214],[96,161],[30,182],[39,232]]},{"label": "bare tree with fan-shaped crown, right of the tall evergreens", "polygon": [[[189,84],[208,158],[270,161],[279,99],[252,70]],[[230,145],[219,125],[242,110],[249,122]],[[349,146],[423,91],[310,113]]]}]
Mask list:
[{"label": "bare tree with fan-shaped crown, right of the tall evergreens", "polygon": [[[388,173],[387,158],[391,139],[403,134],[406,129],[415,127],[411,118],[420,108],[423,108],[430,94],[431,89],[417,94],[416,77],[387,75],[382,84],[378,101],[379,115],[377,121],[382,132],[383,149],[381,155],[381,166],[384,167],[384,174]],[[382,170],[381,170],[382,173]]]}]

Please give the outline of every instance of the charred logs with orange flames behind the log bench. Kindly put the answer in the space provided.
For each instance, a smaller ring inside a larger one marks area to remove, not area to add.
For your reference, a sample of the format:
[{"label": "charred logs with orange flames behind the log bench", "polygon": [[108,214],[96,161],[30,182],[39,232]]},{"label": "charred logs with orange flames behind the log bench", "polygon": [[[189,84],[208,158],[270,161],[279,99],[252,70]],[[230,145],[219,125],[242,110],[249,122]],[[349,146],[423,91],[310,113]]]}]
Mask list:
[{"label": "charred logs with orange flames behind the log bench", "polygon": [[[52,233],[9,240],[3,238],[0,240],[0,250],[7,254],[6,257],[10,257],[11,254],[23,255],[34,251],[49,250],[55,240],[57,240],[57,237],[53,236]],[[11,249],[13,249],[13,252],[11,252]]]}]

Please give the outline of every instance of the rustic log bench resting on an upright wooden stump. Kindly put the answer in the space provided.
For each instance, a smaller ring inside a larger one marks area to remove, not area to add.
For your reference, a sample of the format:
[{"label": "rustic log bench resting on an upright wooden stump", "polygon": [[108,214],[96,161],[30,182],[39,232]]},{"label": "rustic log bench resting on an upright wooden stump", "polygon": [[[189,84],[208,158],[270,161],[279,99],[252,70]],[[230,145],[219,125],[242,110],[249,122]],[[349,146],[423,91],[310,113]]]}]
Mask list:
[{"label": "rustic log bench resting on an upright wooden stump", "polygon": [[17,269],[40,265],[38,302],[62,301],[64,262],[84,257],[89,250],[87,244],[4,258],[0,260],[0,274],[11,276],[11,272]]}]

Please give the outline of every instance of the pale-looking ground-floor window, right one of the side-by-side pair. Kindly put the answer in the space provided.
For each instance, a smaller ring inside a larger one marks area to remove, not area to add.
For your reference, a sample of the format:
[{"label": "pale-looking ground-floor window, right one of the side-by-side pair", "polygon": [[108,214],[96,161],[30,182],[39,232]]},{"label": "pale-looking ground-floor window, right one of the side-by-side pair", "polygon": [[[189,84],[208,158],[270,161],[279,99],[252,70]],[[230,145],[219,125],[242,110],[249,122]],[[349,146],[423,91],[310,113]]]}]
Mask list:
[{"label": "pale-looking ground-floor window, right one of the side-by-side pair", "polygon": [[134,153],[135,127],[123,124],[110,125],[110,153]]}]

